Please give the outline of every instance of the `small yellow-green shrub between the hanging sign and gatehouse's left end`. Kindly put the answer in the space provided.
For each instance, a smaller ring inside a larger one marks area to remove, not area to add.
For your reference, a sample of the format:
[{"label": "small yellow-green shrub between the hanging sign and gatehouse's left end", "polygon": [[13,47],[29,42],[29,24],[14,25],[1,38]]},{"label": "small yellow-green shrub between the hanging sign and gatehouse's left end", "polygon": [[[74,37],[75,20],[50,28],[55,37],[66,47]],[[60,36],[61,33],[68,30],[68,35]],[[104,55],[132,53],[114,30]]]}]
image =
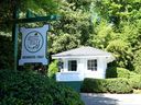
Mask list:
[{"label": "small yellow-green shrub between the hanging sign and gatehouse's left end", "polygon": [[58,67],[57,67],[58,61],[54,60],[50,66],[48,66],[48,71],[47,71],[47,75],[50,78],[54,78],[56,72],[58,71]]}]

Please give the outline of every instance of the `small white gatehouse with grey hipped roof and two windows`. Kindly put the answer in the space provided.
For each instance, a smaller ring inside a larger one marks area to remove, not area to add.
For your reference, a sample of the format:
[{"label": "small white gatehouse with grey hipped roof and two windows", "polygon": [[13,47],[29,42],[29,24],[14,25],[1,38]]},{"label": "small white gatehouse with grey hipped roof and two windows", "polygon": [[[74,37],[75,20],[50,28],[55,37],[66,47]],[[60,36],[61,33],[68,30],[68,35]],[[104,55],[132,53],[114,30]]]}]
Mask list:
[{"label": "small white gatehouse with grey hipped roof and two windows", "polygon": [[85,78],[105,79],[107,63],[115,57],[93,47],[80,47],[52,56],[59,60],[56,81],[83,81]]}]

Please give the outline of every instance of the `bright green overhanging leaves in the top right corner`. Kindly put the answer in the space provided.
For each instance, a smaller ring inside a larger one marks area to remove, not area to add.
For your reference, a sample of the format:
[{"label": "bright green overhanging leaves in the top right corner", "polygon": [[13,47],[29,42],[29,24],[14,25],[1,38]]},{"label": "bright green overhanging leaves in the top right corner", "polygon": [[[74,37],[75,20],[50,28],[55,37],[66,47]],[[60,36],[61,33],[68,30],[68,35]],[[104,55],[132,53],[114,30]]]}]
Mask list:
[{"label": "bright green overhanging leaves in the top right corner", "polygon": [[117,26],[122,21],[133,23],[141,16],[141,0],[94,0],[94,4],[99,16]]}]

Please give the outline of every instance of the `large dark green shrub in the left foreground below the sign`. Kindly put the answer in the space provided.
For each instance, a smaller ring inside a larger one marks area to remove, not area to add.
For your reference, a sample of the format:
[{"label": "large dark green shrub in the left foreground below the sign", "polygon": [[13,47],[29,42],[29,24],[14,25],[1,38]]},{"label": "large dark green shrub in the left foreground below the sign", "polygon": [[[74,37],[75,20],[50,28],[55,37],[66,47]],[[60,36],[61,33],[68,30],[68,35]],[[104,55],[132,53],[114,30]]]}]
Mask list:
[{"label": "large dark green shrub in the left foreground below the sign", "polygon": [[84,105],[78,93],[33,72],[0,70],[0,105]]}]

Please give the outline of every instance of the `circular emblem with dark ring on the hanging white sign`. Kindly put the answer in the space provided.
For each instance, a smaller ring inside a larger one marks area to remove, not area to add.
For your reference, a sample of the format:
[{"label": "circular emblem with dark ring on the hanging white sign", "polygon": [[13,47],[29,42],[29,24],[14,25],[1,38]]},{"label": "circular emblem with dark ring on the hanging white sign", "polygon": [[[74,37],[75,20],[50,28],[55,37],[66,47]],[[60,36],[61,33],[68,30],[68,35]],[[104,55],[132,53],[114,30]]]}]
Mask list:
[{"label": "circular emblem with dark ring on the hanging white sign", "polygon": [[24,38],[25,49],[30,52],[36,52],[43,47],[43,36],[41,33],[30,32]]}]

